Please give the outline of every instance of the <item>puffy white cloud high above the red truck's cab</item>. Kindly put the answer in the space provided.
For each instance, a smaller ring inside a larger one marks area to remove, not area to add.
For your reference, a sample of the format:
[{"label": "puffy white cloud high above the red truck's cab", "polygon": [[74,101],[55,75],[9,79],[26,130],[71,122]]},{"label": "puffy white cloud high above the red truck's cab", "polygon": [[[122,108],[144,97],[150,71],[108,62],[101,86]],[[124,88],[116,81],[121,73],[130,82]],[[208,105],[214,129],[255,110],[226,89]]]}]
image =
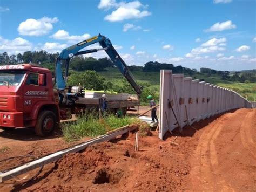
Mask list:
[{"label": "puffy white cloud high above the red truck's cab", "polygon": [[26,36],[42,36],[48,34],[53,26],[53,23],[58,22],[57,17],[49,18],[43,17],[40,19],[26,19],[18,26],[18,32],[20,35]]}]

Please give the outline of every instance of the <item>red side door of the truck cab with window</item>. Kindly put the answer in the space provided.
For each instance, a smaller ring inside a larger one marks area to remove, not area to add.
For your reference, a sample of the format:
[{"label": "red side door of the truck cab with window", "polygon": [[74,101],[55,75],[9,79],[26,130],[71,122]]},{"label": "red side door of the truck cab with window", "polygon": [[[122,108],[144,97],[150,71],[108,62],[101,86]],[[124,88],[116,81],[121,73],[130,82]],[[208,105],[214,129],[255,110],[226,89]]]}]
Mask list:
[{"label": "red side door of the truck cab with window", "polygon": [[30,72],[26,77],[24,92],[24,118],[29,118],[33,106],[40,101],[50,99],[49,88],[47,86],[46,74]]}]

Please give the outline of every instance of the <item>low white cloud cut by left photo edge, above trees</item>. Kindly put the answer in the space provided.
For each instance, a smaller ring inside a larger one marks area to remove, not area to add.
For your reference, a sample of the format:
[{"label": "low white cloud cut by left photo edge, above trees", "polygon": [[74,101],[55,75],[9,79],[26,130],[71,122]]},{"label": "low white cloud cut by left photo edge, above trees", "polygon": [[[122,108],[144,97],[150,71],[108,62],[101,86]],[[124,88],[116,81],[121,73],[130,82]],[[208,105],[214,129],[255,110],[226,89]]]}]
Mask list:
[{"label": "low white cloud cut by left photo edge, above trees", "polygon": [[21,37],[15,38],[13,40],[4,39],[0,36],[0,51],[6,51],[9,56],[11,54],[18,54],[25,51],[31,51],[33,49],[32,43]]}]

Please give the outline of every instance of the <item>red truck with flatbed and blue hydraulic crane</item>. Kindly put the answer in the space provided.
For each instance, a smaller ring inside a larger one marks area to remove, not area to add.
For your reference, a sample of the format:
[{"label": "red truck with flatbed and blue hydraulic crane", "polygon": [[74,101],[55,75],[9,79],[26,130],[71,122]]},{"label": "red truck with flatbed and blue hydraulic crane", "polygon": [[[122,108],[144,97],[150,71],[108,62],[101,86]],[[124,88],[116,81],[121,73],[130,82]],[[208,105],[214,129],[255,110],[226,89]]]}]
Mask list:
[{"label": "red truck with flatbed and blue hydraulic crane", "polygon": [[[99,50],[105,50],[109,54],[139,96],[142,87],[114,50],[110,40],[99,34],[68,47],[59,54],[54,83],[51,71],[46,68],[30,64],[0,65],[0,127],[2,129],[35,127],[37,135],[47,136],[54,131],[60,119],[72,118],[71,114],[78,112],[77,109],[99,107],[99,99],[87,99],[81,90],[72,93],[66,87],[70,58],[79,54],[97,52],[97,49],[79,52],[80,49],[97,42],[103,47]],[[61,68],[62,61],[65,61],[64,75]],[[109,108],[113,111],[119,108],[126,111],[126,108],[138,104],[138,99],[110,100]]]}]

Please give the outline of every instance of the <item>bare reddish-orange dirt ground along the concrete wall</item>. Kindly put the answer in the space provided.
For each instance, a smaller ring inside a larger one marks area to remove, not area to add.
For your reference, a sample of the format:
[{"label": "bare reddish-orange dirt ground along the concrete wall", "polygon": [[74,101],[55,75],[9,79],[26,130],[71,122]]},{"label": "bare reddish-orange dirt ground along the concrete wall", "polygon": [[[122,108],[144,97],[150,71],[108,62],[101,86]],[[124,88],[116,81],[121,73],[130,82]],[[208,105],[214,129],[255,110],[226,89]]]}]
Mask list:
[{"label": "bare reddish-orange dirt ground along the concrete wall", "polygon": [[[256,109],[214,116],[184,128],[185,136],[174,131],[164,141],[152,133],[140,136],[139,152],[134,152],[135,134],[130,133],[66,155],[45,166],[25,186],[19,185],[22,180],[12,179],[1,184],[0,190],[14,189],[14,184],[17,190],[40,191],[256,190]],[[29,152],[41,156],[70,145],[61,138],[27,139],[5,141],[6,147],[1,141],[0,161]],[[2,162],[0,170],[10,163]]]}]

